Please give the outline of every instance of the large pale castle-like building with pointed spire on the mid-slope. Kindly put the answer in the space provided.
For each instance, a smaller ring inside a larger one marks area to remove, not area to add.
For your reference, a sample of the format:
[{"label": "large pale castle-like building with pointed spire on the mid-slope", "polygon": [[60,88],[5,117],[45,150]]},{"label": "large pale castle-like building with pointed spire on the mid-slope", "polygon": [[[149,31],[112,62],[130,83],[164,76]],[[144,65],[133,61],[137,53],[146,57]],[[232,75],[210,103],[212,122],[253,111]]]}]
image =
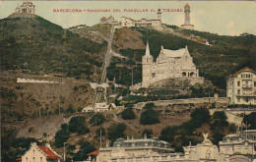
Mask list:
[{"label": "large pale castle-like building with pointed spire on the mid-slope", "polygon": [[143,87],[165,79],[187,78],[196,80],[194,82],[204,82],[204,79],[199,77],[199,70],[193,63],[187,46],[179,50],[164,49],[161,46],[160,55],[154,62],[147,43],[146,53],[142,58],[142,70]]}]

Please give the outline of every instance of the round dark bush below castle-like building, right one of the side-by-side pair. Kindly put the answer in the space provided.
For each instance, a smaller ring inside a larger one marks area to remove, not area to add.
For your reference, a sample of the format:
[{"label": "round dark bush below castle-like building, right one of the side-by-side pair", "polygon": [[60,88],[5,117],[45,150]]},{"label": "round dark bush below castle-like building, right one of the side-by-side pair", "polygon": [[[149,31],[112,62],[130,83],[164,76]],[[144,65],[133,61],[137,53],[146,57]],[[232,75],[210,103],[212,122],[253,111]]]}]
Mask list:
[{"label": "round dark bush below castle-like building, right one of the side-by-side pair", "polygon": [[160,123],[159,112],[153,109],[144,111],[141,115],[140,123],[142,125],[155,125]]}]

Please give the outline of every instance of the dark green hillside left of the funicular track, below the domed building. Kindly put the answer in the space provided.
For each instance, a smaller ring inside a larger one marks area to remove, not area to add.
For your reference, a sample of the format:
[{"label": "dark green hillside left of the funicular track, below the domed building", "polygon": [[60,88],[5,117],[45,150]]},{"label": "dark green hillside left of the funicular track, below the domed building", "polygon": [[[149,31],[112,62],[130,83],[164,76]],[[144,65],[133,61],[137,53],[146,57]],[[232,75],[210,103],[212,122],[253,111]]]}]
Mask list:
[{"label": "dark green hillside left of the funicular track, below the domed building", "polygon": [[12,14],[0,20],[1,71],[91,79],[101,67],[106,42],[97,43],[41,17],[27,15]]}]

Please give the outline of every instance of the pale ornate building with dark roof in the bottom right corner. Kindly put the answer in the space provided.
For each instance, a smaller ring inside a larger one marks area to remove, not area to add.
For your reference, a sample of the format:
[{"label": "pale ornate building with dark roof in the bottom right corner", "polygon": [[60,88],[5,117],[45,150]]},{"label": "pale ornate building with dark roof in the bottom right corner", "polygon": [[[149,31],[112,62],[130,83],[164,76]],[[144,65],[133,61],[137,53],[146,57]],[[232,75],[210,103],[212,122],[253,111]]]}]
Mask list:
[{"label": "pale ornate building with dark roof in the bottom right corner", "polygon": [[256,130],[237,132],[233,135],[225,135],[223,141],[219,142],[220,151],[232,155],[252,154],[256,155]]}]

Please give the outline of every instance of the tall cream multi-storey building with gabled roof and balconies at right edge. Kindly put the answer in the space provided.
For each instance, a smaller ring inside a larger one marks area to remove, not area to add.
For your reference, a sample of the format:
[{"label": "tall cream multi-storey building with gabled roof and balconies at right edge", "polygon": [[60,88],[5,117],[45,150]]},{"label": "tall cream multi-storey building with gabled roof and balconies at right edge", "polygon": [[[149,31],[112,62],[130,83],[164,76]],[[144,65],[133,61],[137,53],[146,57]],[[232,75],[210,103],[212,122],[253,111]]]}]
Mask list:
[{"label": "tall cream multi-storey building with gabled roof and balconies at right edge", "polygon": [[256,72],[246,67],[226,81],[228,104],[256,105]]}]

